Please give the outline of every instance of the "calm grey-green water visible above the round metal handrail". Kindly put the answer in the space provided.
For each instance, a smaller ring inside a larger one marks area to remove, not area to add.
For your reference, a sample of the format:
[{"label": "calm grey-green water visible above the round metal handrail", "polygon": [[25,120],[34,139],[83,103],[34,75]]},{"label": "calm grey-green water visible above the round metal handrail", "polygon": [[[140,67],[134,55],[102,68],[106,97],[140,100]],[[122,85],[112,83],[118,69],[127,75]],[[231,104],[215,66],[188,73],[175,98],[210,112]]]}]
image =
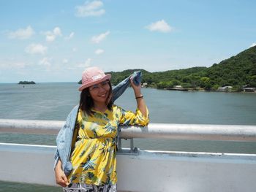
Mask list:
[{"label": "calm grey-green water visible above the round metal handrail", "polygon": [[[0,84],[0,118],[65,120],[78,104],[75,82]],[[164,91],[143,88],[151,123],[256,125],[256,93]],[[131,88],[116,101],[135,110]]]}]

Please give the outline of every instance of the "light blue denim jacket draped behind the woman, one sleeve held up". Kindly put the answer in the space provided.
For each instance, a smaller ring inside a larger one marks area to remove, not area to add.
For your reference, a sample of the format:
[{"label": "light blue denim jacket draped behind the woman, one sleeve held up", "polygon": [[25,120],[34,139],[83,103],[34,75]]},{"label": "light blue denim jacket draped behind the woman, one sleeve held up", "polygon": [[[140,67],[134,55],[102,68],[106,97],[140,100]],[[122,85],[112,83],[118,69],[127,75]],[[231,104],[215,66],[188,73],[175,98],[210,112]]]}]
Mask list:
[{"label": "light blue denim jacket draped behind the woman, one sleeve held up", "polygon": [[[135,85],[139,85],[141,82],[141,72],[134,72],[132,75],[127,77],[125,80],[121,81],[113,88],[113,101],[116,101],[119,96],[127,89],[129,85],[129,78],[133,78]],[[62,170],[66,175],[72,171],[72,164],[69,161],[72,148],[72,138],[75,130],[75,123],[77,120],[79,105],[75,106],[69,115],[67,116],[64,126],[60,129],[59,134],[56,138],[57,149],[54,155],[55,163],[54,168],[56,167],[57,162],[61,159]],[[119,134],[118,134],[119,135]]]}]

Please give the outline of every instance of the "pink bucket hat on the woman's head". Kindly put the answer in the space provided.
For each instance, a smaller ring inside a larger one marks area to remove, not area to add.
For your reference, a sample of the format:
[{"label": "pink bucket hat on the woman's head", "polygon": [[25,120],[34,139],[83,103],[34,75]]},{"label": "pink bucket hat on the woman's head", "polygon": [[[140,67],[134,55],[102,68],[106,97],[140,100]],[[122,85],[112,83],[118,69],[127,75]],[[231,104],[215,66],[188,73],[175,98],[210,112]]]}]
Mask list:
[{"label": "pink bucket hat on the woman's head", "polygon": [[83,89],[90,87],[91,85],[97,84],[99,82],[110,80],[111,74],[105,74],[102,69],[97,66],[92,66],[87,68],[82,75],[82,85],[78,89],[83,91]]}]

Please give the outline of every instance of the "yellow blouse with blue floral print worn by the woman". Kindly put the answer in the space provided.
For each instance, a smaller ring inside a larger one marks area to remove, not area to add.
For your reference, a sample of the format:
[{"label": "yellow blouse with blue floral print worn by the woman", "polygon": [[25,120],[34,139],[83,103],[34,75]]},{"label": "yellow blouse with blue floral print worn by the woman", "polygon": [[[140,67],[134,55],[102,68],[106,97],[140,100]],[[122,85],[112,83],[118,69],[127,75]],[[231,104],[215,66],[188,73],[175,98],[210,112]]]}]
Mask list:
[{"label": "yellow blouse with blue floral print worn by the woman", "polygon": [[82,110],[78,112],[78,137],[70,157],[73,169],[68,180],[70,183],[114,185],[117,183],[118,125],[147,126],[148,109],[146,117],[138,109],[134,113],[116,105],[113,105],[112,110],[92,112],[92,116]]}]

